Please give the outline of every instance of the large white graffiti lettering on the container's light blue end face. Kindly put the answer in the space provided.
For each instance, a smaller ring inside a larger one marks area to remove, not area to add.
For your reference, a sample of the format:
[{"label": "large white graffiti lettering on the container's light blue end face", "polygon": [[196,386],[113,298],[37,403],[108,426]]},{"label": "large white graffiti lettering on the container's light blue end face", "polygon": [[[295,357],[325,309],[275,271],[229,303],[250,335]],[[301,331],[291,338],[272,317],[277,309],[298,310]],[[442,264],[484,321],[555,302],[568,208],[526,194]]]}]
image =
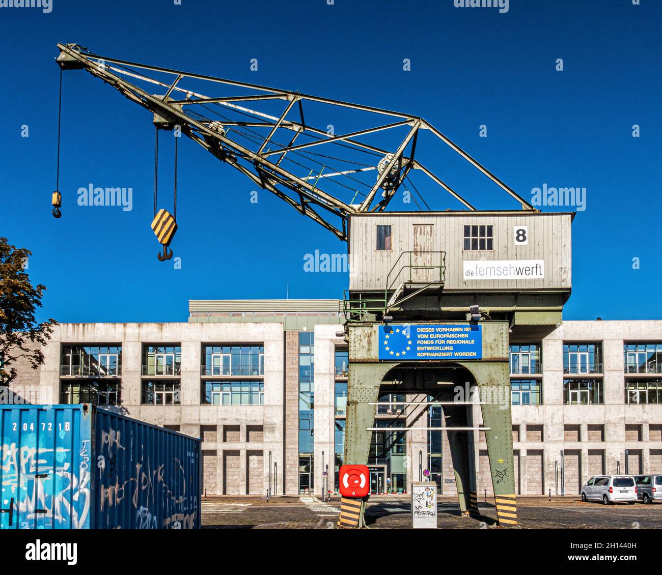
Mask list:
[{"label": "large white graffiti lettering on the container's light blue end face", "polygon": [[[29,437],[28,437],[29,439]],[[29,443],[29,441],[27,442]],[[79,473],[72,472],[70,449],[5,443],[0,446],[2,500],[13,497],[24,529],[85,525],[89,515],[89,442],[79,453]],[[44,509],[46,512],[36,512]]]}]

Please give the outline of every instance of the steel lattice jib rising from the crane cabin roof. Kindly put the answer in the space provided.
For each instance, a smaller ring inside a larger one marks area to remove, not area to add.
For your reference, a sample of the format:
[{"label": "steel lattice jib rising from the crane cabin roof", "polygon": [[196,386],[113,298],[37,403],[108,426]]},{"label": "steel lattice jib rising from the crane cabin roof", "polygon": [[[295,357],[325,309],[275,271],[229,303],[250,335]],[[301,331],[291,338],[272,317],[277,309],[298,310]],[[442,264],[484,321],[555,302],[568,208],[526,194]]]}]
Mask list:
[{"label": "steel lattice jib rising from the crane cabin roof", "polygon": [[[62,69],[85,69],[103,79],[126,98],[152,112],[154,124],[158,128],[171,130],[177,126],[181,134],[232,165],[256,185],[284,200],[340,240],[347,240],[348,216],[385,210],[404,181],[408,180],[411,170],[426,175],[436,187],[444,189],[465,208],[476,209],[414,157],[420,130],[426,130],[444,142],[520,202],[522,209],[536,211],[487,168],[418,116],[209,75],[126,62],[92,54],[78,44],[58,44],[58,49],[60,55],[56,62]],[[228,90],[246,90],[246,93],[211,97],[184,88],[182,84],[185,80],[207,83],[209,89],[226,87]],[[146,85],[138,86],[138,82]],[[163,94],[152,93],[147,89],[150,86],[160,87]],[[280,113],[246,107],[259,107],[277,101],[285,104]],[[374,116],[389,116],[392,120],[388,123],[381,120],[376,126],[336,135],[308,123],[304,104],[330,105]],[[402,139],[399,136],[399,145],[391,150],[365,140],[365,136],[393,133],[398,129],[406,130],[406,135]],[[276,140],[277,134],[282,134],[283,130],[291,134],[287,143]],[[302,141],[302,136],[308,139]],[[326,152],[330,147],[333,147],[336,155]],[[350,155],[358,152],[371,155],[371,163],[362,163]],[[310,168],[302,161],[312,161],[316,166]],[[342,163],[344,169],[332,169],[329,165],[331,161]],[[321,168],[318,167],[320,163]],[[301,172],[301,168],[308,169],[308,174],[295,173]],[[360,180],[372,171],[376,173],[375,179],[367,182]],[[343,192],[348,189],[352,200],[342,200],[342,194],[328,191],[332,185],[334,189],[342,187]],[[359,190],[359,186],[363,191]],[[377,201],[375,197],[380,190],[381,200]],[[356,200],[358,195],[361,198]],[[336,222],[332,223],[334,216]]]}]

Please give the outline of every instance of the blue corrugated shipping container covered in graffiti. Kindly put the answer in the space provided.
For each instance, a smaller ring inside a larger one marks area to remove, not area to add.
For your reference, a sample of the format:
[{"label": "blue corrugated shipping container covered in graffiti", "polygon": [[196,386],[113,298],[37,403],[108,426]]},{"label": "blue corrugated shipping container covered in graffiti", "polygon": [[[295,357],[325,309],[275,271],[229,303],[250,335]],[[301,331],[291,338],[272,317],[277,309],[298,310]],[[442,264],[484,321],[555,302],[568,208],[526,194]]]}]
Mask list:
[{"label": "blue corrugated shipping container covered in graffiti", "polygon": [[0,406],[0,529],[199,529],[201,460],[95,406]]}]

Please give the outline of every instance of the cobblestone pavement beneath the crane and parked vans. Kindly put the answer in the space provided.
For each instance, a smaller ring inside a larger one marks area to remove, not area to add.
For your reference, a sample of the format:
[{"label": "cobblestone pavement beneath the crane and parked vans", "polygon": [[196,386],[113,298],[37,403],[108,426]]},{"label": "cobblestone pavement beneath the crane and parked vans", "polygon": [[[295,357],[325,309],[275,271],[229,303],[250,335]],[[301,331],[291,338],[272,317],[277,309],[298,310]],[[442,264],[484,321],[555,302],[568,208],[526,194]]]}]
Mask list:
[{"label": "cobblestone pavement beneath the crane and parked vans", "polygon": [[[662,529],[662,504],[603,506],[577,498],[522,497],[517,500],[522,529]],[[365,521],[372,529],[408,529],[408,496],[370,499]],[[324,502],[312,496],[271,498],[214,498],[203,502],[203,529],[335,529],[340,500]],[[438,502],[440,529],[494,529],[493,503],[479,502],[481,517],[462,517],[456,498]]]}]

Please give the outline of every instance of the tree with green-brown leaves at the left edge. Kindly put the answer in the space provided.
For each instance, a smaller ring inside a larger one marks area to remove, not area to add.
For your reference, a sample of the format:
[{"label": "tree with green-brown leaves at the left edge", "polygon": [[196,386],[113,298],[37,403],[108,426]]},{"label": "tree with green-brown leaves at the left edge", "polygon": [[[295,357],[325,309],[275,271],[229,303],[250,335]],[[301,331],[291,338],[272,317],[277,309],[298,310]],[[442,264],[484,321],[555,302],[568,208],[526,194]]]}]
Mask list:
[{"label": "tree with green-brown leaves at the left edge", "polygon": [[13,364],[26,358],[32,369],[44,363],[41,345],[50,339],[53,326],[49,319],[37,323],[34,311],[42,306],[46,287],[33,286],[26,273],[28,249],[17,248],[0,237],[0,384],[9,385],[16,378]]}]

